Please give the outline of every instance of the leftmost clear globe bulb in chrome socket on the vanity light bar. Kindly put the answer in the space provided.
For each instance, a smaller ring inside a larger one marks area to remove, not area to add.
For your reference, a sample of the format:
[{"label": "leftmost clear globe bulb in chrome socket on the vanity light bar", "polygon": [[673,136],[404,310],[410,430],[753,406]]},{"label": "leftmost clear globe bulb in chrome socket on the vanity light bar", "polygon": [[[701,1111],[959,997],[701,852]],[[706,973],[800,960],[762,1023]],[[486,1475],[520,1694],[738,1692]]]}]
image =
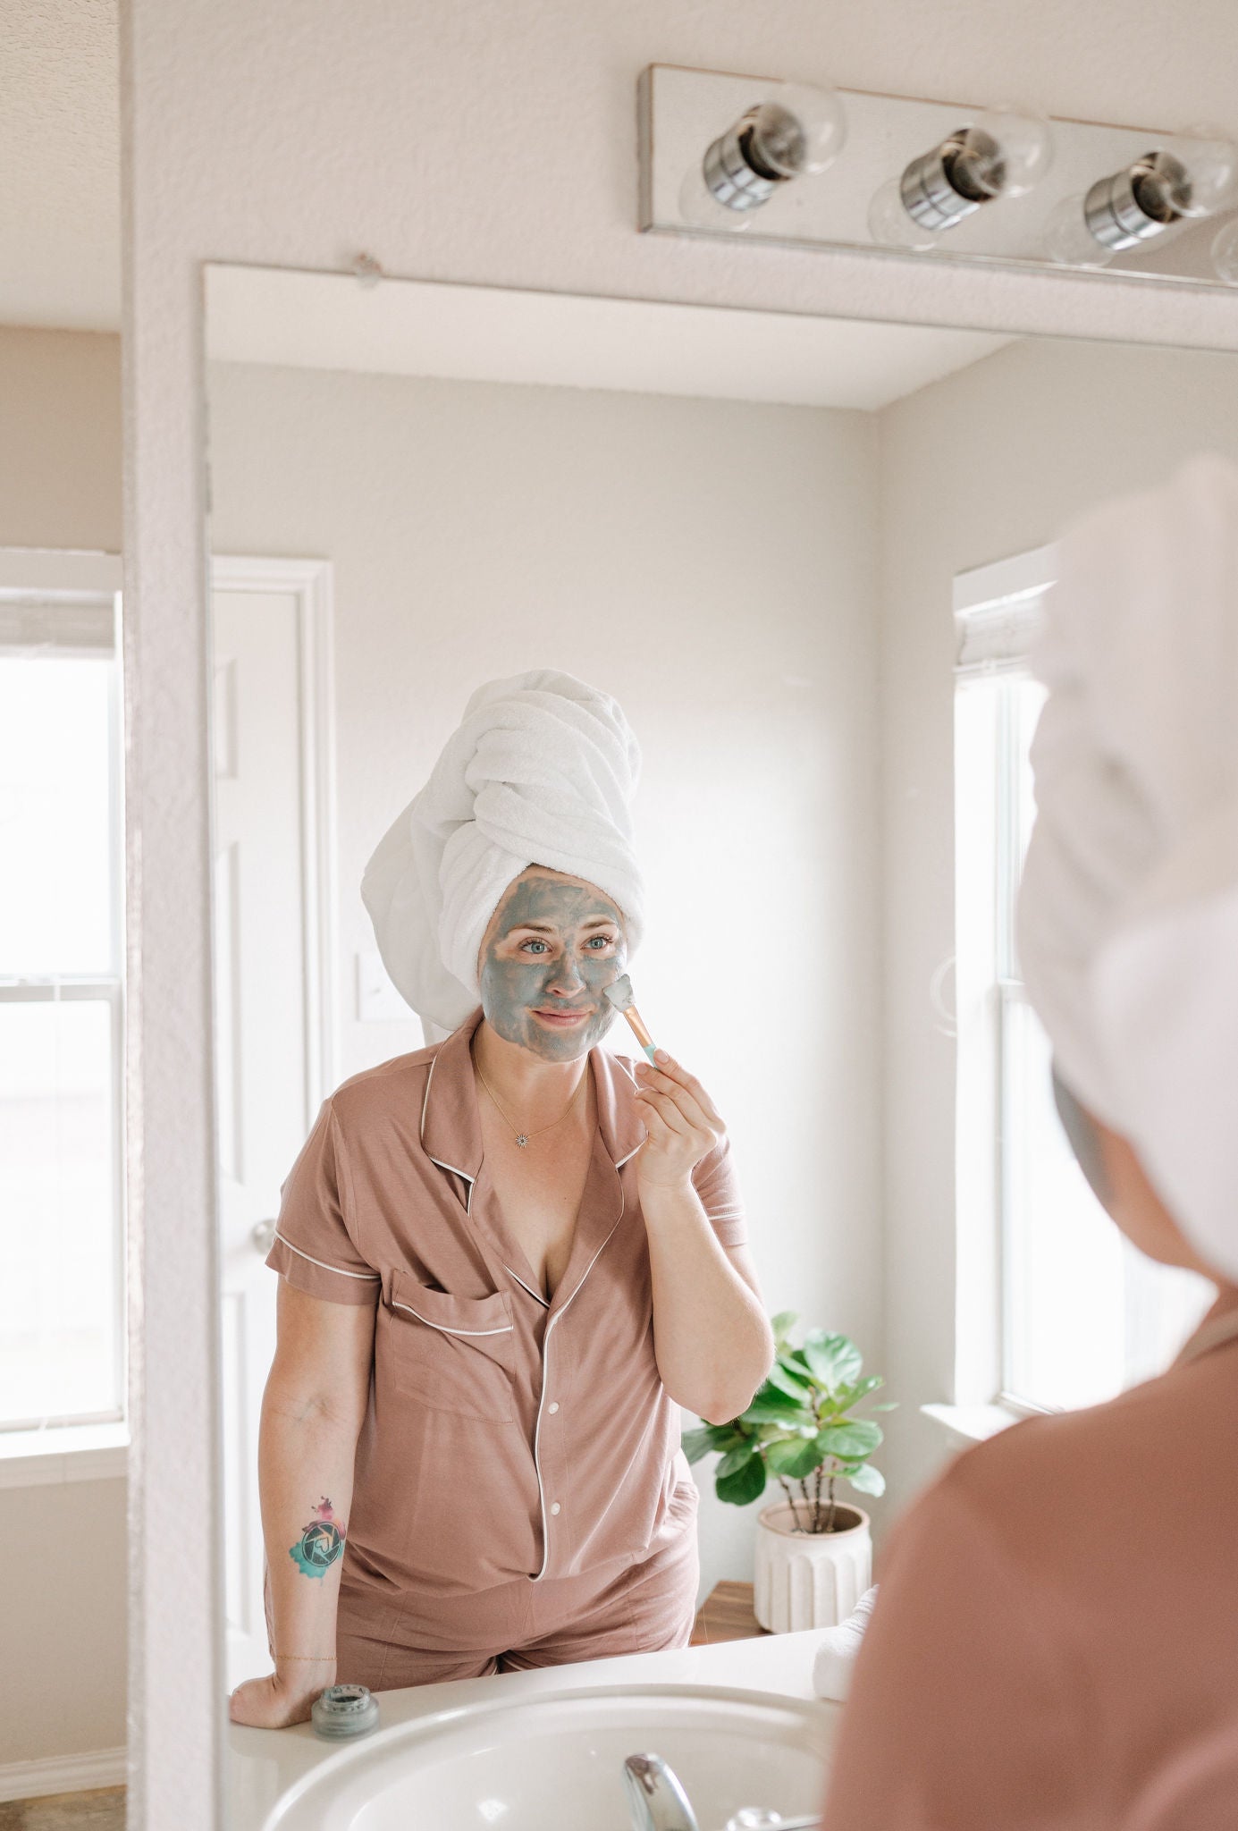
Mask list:
[{"label": "leftmost clear globe bulb in chrome socket on the vanity light bar", "polygon": [[844,141],[846,115],[833,90],[775,82],[689,170],[683,220],[700,229],[747,229],[751,212],[776,190],[833,165]]}]

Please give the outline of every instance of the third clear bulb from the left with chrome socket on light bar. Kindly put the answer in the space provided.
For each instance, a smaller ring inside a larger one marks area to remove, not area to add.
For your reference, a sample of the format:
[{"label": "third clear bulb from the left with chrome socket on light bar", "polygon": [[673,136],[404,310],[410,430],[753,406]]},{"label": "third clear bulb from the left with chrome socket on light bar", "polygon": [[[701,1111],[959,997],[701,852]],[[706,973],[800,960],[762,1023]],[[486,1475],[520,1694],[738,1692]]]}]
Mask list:
[{"label": "third clear bulb from the left with chrome socket on light bar", "polygon": [[1212,216],[1233,200],[1238,146],[1183,134],[1099,178],[1084,196],[1066,198],[1046,227],[1046,251],[1066,267],[1104,267],[1123,249]]}]

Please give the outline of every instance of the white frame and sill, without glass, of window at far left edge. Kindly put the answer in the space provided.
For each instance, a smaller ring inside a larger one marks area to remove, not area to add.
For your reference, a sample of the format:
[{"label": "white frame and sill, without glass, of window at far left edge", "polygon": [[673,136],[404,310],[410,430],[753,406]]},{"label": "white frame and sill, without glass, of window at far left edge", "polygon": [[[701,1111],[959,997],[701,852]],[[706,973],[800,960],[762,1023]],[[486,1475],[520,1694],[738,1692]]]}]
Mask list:
[{"label": "white frame and sill, without glass, of window at far left edge", "polygon": [[106,1000],[112,1007],[114,1176],[115,1176],[115,1390],[117,1410],[57,1419],[29,1428],[0,1428],[0,1489],[59,1481],[97,1481],[128,1467],[126,1423],[126,1241],[125,1241],[125,806],[121,685],[121,560],[114,553],[0,547],[0,652],[114,655],[110,738],[110,864],[114,884],[115,972],[101,980],[0,980],[0,1003]]}]

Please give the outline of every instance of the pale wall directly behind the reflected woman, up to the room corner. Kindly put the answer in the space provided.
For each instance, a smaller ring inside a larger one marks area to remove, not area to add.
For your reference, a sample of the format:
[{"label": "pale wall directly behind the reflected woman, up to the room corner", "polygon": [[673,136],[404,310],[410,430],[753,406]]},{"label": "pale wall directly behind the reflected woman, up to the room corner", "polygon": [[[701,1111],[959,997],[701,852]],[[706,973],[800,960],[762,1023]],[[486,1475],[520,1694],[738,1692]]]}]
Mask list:
[{"label": "pale wall directly behind the reflected woman, up to the room corner", "polygon": [[[614,692],[641,1005],[731,1121],[771,1307],[879,1364],[874,419],[222,366],[211,430],[216,549],[335,568],[341,983],[364,861],[472,688]],[[341,1069],[419,1042],[346,1011]],[[749,1575],[753,1514],[705,1487],[711,1587]]]}]

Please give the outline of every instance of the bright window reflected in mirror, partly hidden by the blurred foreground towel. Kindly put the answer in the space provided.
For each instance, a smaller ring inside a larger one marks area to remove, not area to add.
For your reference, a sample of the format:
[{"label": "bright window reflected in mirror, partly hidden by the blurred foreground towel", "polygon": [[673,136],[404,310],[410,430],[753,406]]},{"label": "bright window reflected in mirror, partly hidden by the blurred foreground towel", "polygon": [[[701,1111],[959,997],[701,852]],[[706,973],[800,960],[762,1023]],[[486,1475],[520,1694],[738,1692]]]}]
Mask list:
[{"label": "bright window reflected in mirror, partly hidden by the blurred foreground towel", "polygon": [[985,1368],[989,1390],[972,1379],[969,1399],[1015,1410],[1093,1404],[1161,1371],[1211,1298],[1205,1280],[1143,1258],[1091,1196],[1018,972],[1029,745],[1044,701],[1026,655],[1051,562],[1042,549],[956,586],[958,1188],[972,1298],[960,1327],[987,1331],[972,1371]]}]

